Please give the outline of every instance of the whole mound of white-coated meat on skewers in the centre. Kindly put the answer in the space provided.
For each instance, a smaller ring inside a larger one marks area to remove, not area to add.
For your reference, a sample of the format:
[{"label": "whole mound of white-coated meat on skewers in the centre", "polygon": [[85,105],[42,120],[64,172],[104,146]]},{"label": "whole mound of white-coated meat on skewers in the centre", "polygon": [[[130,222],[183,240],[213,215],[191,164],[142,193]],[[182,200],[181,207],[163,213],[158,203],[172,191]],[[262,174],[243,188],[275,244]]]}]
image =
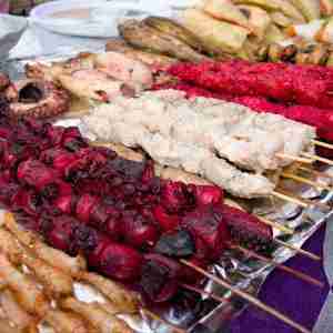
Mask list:
[{"label": "whole mound of white-coated meat on skewers in the centre", "polygon": [[214,99],[188,100],[172,90],[115,99],[84,122],[102,140],[141,147],[161,164],[202,174],[244,198],[269,195],[274,184],[261,173],[290,164],[276,154],[311,150],[315,137],[313,128],[280,115]]}]

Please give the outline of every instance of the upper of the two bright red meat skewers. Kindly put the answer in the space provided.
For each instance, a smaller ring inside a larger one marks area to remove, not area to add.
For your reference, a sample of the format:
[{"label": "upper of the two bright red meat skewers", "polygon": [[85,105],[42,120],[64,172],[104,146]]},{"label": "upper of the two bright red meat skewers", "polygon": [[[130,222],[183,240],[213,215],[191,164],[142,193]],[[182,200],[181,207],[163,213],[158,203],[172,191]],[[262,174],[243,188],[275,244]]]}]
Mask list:
[{"label": "upper of the two bright red meat skewers", "polygon": [[179,63],[169,73],[215,92],[261,95],[301,105],[332,109],[332,70],[320,65],[244,61]]}]

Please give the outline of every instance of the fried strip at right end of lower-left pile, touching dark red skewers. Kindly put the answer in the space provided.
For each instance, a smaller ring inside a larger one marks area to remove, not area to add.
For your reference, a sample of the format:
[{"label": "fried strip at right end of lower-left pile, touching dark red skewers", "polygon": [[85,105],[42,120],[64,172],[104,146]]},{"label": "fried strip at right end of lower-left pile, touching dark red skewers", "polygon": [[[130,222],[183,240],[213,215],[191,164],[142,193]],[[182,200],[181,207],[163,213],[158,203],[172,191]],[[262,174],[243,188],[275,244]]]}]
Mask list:
[{"label": "fried strip at right end of lower-left pile, touching dark red skewers", "polygon": [[109,299],[122,313],[138,313],[140,296],[134,292],[130,292],[119,283],[110,279],[105,279],[94,273],[82,272],[78,275],[78,280],[89,283]]}]

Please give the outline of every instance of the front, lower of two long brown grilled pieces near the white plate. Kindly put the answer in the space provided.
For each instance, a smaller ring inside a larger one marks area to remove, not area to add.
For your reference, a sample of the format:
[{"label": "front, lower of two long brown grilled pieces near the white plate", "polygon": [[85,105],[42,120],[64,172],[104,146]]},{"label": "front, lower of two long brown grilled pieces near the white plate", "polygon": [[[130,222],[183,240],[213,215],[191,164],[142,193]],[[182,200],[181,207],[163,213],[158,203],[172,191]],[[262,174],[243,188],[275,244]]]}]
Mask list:
[{"label": "front, lower of two long brown grilled pieces near the white plate", "polygon": [[175,57],[180,60],[194,62],[206,58],[173,36],[151,28],[144,22],[129,20],[119,24],[118,29],[128,43],[140,49],[148,49],[161,54]]}]

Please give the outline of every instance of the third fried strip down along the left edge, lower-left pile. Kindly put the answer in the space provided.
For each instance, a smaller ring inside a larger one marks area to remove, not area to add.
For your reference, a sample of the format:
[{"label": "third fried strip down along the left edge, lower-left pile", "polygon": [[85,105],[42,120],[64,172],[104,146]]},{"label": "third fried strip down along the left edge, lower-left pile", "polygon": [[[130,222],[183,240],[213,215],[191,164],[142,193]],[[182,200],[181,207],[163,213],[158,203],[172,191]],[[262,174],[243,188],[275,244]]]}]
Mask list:
[{"label": "third fried strip down along the left edge, lower-left pile", "polygon": [[0,278],[27,312],[42,316],[48,311],[49,302],[42,290],[30,276],[17,270],[3,253],[0,253]]}]

